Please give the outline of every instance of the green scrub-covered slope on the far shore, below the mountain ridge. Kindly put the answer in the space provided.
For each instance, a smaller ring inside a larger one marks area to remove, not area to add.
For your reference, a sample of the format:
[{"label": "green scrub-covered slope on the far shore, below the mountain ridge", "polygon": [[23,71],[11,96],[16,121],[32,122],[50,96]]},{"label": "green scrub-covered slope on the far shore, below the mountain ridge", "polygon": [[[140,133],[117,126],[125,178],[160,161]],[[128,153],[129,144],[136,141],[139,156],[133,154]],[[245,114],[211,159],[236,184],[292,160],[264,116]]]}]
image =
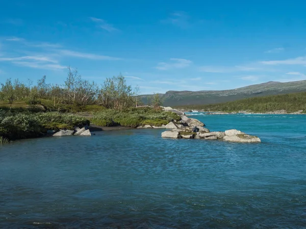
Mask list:
[{"label": "green scrub-covered slope on the far shore, below the mountain ridge", "polygon": [[179,106],[176,108],[225,112],[238,112],[241,110],[249,112],[270,112],[276,110],[295,112],[303,110],[303,112],[306,112],[306,92],[256,97],[211,105]]}]

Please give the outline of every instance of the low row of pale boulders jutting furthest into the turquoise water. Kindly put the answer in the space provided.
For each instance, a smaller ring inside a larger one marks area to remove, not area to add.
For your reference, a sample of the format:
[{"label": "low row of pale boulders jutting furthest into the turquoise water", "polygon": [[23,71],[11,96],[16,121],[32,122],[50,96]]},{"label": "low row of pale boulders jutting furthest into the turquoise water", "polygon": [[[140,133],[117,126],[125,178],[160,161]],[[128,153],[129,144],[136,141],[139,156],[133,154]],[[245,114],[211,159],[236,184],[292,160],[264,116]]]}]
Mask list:
[{"label": "low row of pale boulders jutting furthest into the turquoise water", "polygon": [[196,138],[196,139],[222,139],[225,141],[234,142],[261,142],[257,136],[248,135],[240,130],[226,130],[225,132],[215,131],[210,132],[209,129],[201,126],[196,126],[196,132],[194,127],[183,127],[162,132],[162,137],[165,138]]}]

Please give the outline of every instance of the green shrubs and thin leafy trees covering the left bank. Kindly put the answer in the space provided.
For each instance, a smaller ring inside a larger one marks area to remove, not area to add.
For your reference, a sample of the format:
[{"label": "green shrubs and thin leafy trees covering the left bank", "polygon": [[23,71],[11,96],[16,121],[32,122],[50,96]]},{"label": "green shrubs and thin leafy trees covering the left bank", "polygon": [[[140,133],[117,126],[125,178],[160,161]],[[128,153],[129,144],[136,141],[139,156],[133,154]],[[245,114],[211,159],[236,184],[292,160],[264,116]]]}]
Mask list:
[{"label": "green shrubs and thin leafy trees covering the left bank", "polygon": [[36,85],[31,80],[7,79],[0,88],[0,143],[84,126],[89,122],[84,116],[93,117],[96,125],[125,127],[160,126],[179,119],[159,109],[162,100],[158,94],[150,101],[152,107],[137,108],[139,92],[121,74],[97,85],[70,67],[61,85],[46,83],[46,76]]}]

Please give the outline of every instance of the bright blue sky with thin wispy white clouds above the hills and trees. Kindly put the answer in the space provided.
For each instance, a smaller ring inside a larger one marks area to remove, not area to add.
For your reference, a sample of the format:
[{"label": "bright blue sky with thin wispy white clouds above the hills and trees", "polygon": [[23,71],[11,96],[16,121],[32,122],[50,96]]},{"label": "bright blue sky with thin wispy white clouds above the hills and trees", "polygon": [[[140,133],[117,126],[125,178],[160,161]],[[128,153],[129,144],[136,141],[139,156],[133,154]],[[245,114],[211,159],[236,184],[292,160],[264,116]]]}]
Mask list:
[{"label": "bright blue sky with thin wispy white clouds above the hills and trees", "polygon": [[304,1],[23,1],[0,8],[0,82],[67,66],[141,94],[306,79]]}]

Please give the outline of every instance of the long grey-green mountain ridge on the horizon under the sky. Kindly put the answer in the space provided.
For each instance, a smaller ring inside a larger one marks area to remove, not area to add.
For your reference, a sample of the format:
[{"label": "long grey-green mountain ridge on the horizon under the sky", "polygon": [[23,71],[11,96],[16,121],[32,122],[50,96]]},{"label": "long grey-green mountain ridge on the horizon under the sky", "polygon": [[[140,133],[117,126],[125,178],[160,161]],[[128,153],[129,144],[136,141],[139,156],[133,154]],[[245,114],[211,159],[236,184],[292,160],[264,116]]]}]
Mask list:
[{"label": "long grey-green mountain ridge on the horizon under the sky", "polygon": [[[182,106],[223,103],[245,98],[296,92],[306,92],[306,80],[285,83],[269,81],[224,91],[168,91],[165,94],[160,94],[160,96],[164,100],[165,106]],[[144,104],[147,104],[150,97],[152,95],[141,95],[140,99]]]}]

